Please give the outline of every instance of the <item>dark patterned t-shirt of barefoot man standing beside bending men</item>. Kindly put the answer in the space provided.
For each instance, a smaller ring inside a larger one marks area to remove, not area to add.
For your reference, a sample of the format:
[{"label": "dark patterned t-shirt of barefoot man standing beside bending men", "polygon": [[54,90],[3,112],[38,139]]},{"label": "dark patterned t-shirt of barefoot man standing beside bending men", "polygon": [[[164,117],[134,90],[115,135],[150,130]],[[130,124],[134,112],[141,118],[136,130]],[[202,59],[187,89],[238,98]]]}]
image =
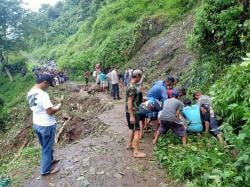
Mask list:
[{"label": "dark patterned t-shirt of barefoot man standing beside bending men", "polygon": [[133,112],[138,111],[140,105],[140,88],[134,83],[129,83],[126,88],[126,112],[128,112],[128,98],[133,99]]}]

